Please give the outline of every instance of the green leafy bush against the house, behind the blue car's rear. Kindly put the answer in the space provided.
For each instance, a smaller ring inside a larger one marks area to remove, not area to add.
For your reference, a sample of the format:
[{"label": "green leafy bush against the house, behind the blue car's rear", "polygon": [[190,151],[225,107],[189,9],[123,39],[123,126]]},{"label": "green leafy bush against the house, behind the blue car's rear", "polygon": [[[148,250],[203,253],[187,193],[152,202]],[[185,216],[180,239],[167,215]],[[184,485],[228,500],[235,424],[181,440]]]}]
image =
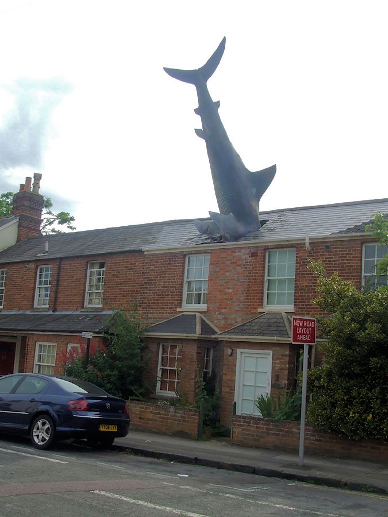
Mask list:
[{"label": "green leafy bush against the house, behind the blue car's rear", "polygon": [[105,325],[105,346],[91,351],[87,366],[84,351],[68,355],[65,375],[89,381],[124,399],[139,396],[144,392],[141,335],[136,309],[114,311]]}]

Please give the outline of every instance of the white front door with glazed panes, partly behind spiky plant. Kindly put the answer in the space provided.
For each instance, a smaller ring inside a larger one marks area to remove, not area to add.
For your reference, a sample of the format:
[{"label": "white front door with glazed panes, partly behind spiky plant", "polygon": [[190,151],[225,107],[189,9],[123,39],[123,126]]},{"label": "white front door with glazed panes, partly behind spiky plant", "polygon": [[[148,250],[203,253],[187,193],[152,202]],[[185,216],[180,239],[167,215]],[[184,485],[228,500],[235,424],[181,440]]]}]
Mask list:
[{"label": "white front door with glazed panes, partly behind spiky plant", "polygon": [[272,351],[238,350],[235,401],[237,415],[260,415],[255,400],[271,394]]}]

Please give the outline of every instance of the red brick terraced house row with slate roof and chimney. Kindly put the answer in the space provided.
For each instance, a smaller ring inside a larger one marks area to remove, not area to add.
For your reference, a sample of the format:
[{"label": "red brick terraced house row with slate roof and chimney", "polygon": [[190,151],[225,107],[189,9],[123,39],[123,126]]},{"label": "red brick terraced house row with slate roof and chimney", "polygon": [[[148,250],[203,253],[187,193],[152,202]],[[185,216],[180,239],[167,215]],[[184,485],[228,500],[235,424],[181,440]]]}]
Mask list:
[{"label": "red brick terraced house row with slate roof and chimney", "polygon": [[[0,218],[0,374],[62,372],[82,331],[98,346],[112,310],[136,302],[155,396],[192,400],[196,370],[214,369],[225,425],[234,401],[255,413],[260,393],[293,385],[290,317],[317,315],[309,258],[361,287],[386,253],[365,224],[388,199],[262,212],[261,229],[234,242],[200,235],[192,220],[41,236],[38,179]],[[14,242],[2,237],[10,225]]]}]

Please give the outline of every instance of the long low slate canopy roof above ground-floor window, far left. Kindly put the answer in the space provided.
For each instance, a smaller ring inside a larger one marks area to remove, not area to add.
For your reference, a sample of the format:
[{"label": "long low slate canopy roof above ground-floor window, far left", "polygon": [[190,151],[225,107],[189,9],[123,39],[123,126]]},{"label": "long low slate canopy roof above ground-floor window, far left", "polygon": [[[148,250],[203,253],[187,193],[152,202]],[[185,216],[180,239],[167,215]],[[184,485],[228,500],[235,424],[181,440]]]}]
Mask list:
[{"label": "long low slate canopy roof above ground-floor window, far left", "polygon": [[112,311],[3,311],[0,331],[100,333],[111,314]]}]

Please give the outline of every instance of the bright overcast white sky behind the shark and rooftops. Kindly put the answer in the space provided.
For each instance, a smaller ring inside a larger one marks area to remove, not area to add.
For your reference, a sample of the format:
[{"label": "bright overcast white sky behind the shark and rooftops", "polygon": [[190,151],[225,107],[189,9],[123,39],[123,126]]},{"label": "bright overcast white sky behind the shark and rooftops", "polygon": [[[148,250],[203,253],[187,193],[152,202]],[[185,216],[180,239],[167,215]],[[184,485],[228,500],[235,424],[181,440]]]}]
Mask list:
[{"label": "bright overcast white sky behind the shark and rooftops", "polygon": [[388,197],[384,0],[0,0],[0,192],[42,173],[78,230],[218,211],[199,68],[261,210]]}]

